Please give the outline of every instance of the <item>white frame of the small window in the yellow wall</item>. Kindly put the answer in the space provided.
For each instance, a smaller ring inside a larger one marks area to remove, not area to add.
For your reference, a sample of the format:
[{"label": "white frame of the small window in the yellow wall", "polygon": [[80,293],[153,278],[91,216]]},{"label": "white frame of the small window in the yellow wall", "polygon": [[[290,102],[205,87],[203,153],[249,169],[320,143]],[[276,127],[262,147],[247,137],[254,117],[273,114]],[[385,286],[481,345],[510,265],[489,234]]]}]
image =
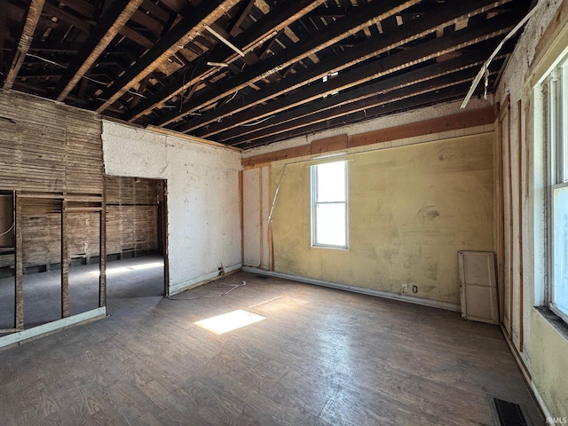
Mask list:
[{"label": "white frame of the small window in the yellow wall", "polygon": [[[343,162],[344,166],[344,188],[343,201],[318,201],[318,167],[324,164]],[[345,211],[345,244],[322,244],[317,242],[317,208],[319,204],[343,204]],[[349,250],[349,167],[347,160],[335,160],[329,162],[319,162],[310,166],[310,205],[311,205],[311,247],[312,248],[335,248]]]}]

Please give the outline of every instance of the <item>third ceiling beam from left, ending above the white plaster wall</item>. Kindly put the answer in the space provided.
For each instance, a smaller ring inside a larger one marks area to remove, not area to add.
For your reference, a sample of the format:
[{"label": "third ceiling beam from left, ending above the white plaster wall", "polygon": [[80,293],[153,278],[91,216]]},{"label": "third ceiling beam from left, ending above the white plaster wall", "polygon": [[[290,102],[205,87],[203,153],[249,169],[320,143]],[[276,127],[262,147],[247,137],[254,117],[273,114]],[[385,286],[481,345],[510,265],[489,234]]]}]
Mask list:
[{"label": "third ceiling beam from left, ending above the white plaster wall", "polygon": [[[207,4],[205,4],[207,3]],[[225,12],[228,12],[239,0],[224,0],[220,4],[203,2],[193,13],[177,22],[174,28],[163,36],[154,47],[150,48],[140,59],[126,72],[121,75],[109,88],[101,94],[101,98],[107,99],[102,103],[95,104],[98,113],[111,106],[115,100],[130,90],[130,88],[142,80],[146,75],[154,71],[163,61],[170,58],[174,53],[184,48],[196,36],[203,31],[203,25],[214,23]]]}]

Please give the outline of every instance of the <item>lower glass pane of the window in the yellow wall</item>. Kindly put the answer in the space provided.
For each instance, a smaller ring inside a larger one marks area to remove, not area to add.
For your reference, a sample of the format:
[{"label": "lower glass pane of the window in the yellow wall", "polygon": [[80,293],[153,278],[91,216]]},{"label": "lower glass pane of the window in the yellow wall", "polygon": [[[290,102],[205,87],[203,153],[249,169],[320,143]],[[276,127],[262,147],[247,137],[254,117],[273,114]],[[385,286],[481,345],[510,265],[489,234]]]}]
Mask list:
[{"label": "lower glass pane of the window in the yellow wall", "polygon": [[345,247],[345,203],[316,205],[315,243]]}]

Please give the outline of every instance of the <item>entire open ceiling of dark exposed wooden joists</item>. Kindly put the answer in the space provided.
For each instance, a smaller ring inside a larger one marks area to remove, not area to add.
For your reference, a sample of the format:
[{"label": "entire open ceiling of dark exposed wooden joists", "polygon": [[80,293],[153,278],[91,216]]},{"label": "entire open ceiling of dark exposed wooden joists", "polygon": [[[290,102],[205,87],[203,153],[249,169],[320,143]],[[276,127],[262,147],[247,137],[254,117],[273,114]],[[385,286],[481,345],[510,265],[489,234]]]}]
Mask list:
[{"label": "entire open ceiling of dark exposed wooden joists", "polygon": [[[534,4],[7,0],[0,73],[12,90],[251,147],[463,99]],[[518,36],[493,60],[490,92]]]}]

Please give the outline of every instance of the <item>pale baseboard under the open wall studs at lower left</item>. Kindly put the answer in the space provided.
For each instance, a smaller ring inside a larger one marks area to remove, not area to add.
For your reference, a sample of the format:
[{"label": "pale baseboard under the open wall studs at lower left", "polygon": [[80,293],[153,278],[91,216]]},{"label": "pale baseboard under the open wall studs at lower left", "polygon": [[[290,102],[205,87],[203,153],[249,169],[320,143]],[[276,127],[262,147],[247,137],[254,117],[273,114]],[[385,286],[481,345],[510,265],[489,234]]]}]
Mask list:
[{"label": "pale baseboard under the open wall studs at lower left", "polygon": [[82,312],[71,317],[57,319],[56,321],[42,324],[41,326],[28,328],[27,330],[18,331],[11,335],[4,335],[0,337],[0,348],[7,349],[21,343],[26,343],[38,337],[51,335],[56,331],[61,331],[64,328],[90,322],[95,319],[102,319],[106,317],[106,307],[93,309],[91,311]]}]

